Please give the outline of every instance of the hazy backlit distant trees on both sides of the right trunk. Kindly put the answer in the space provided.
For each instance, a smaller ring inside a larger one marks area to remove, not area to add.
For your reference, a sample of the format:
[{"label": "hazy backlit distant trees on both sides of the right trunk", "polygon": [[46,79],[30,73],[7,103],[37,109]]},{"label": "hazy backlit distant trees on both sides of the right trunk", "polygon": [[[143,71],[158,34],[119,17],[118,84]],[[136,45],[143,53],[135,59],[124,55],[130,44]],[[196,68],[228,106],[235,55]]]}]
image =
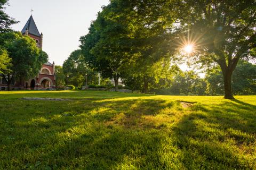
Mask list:
[{"label": "hazy backlit distant trees on both sides of the right trunk", "polygon": [[[207,70],[205,77],[200,78],[194,71],[180,71],[167,88],[151,89],[156,94],[169,95],[223,95],[224,84],[219,68]],[[256,65],[240,61],[232,77],[234,95],[256,94]]]}]

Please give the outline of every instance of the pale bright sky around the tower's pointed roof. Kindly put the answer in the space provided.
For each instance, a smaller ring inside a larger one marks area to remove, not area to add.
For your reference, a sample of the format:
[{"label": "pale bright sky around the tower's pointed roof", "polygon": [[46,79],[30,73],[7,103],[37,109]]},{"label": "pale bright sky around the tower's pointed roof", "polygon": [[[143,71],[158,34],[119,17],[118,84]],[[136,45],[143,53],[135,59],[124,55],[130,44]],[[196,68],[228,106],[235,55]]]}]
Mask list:
[{"label": "pale bright sky around the tower's pointed roof", "polygon": [[9,0],[5,11],[20,21],[12,28],[21,31],[32,8],[37,28],[44,35],[43,50],[49,55],[49,62],[62,65],[78,49],[79,38],[87,34],[101,6],[108,3],[109,0]]}]

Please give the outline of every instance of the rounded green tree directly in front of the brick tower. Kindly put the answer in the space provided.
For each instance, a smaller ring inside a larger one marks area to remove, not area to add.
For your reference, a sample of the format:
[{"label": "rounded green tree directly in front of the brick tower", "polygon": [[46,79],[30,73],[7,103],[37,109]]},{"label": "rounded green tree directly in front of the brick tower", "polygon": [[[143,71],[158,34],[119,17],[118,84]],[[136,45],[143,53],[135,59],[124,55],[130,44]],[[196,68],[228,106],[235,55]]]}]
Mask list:
[{"label": "rounded green tree directly in front of the brick tower", "polygon": [[10,90],[14,79],[22,81],[35,77],[43,63],[47,62],[48,55],[36,46],[34,39],[22,36],[21,33],[2,33],[0,37],[3,40],[0,45],[6,49],[11,58],[8,70],[2,73]]}]

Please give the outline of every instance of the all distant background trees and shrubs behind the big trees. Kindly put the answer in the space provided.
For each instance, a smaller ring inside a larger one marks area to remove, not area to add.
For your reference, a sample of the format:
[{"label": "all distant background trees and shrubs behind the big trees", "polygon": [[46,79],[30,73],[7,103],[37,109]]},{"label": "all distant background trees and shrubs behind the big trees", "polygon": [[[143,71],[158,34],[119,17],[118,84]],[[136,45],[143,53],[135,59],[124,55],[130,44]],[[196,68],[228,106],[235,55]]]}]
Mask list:
[{"label": "all distant background trees and shrubs behind the big trees", "polygon": [[[63,68],[55,66],[56,86],[61,89],[67,85],[67,75],[70,84],[76,87],[85,85],[85,75],[87,74],[87,84],[98,84],[98,74],[92,71],[84,60],[81,50],[71,53],[64,62]],[[157,68],[157,67],[156,67]],[[153,70],[155,68],[153,67]],[[154,73],[154,71],[151,71]],[[157,69],[155,69],[158,71]],[[157,74],[157,73],[155,73]],[[168,76],[156,80],[155,74],[147,75],[147,91],[145,91],[144,77],[126,77],[123,80],[125,88],[133,91],[148,92],[159,95],[223,95],[224,84],[222,81],[221,69],[216,66],[208,69],[204,78],[201,78],[195,71],[181,71],[178,66],[173,65]],[[129,74],[127,74],[129,75]],[[159,74],[157,74],[159,75]],[[232,89],[235,95],[255,95],[256,94],[256,65],[246,61],[238,62],[232,78]],[[101,84],[110,85],[109,79],[102,80]]]}]

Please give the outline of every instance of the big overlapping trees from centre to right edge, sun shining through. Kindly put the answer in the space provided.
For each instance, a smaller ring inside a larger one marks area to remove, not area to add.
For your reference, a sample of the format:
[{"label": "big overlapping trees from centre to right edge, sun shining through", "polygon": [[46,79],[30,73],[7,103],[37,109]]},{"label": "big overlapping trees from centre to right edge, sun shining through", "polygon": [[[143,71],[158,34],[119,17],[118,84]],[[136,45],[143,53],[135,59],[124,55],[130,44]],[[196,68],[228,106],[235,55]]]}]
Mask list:
[{"label": "big overlapping trees from centre to right edge, sun shining through", "polygon": [[[93,71],[115,80],[116,90],[120,78],[141,92],[168,86],[182,61],[220,69],[231,99],[238,61],[256,56],[255,6],[254,0],[112,0],[81,37],[81,53]],[[194,52],[182,53],[186,45]]]}]

